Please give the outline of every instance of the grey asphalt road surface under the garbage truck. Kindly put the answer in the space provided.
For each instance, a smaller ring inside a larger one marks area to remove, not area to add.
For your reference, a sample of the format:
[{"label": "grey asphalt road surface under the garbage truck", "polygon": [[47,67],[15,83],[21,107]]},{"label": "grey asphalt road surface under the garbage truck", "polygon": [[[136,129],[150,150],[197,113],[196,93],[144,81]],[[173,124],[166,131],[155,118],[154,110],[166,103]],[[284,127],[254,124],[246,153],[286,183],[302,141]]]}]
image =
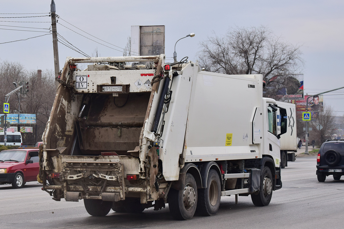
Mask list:
[{"label": "grey asphalt road surface under the garbage truck", "polygon": [[110,213],[89,216],[83,201],[55,202],[28,182],[22,189],[0,186],[0,228],[344,228],[344,178],[328,176],[324,183],[315,175],[315,157],[297,158],[282,169],[283,187],[273,192],[269,206],[255,207],[250,196],[222,197],[217,215],[195,215],[188,221],[173,220],[166,208],[140,214]]}]

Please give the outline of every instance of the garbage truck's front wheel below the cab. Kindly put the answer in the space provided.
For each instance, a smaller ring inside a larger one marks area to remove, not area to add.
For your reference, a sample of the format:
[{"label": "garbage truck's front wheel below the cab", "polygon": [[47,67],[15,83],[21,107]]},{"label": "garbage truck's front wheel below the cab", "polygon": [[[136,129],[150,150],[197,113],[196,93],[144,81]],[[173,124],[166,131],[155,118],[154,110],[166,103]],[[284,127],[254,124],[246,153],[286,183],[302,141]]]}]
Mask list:
[{"label": "garbage truck's front wheel below the cab", "polygon": [[254,205],[263,207],[270,204],[272,197],[272,174],[269,167],[265,166],[260,178],[260,190],[257,195],[251,194]]}]

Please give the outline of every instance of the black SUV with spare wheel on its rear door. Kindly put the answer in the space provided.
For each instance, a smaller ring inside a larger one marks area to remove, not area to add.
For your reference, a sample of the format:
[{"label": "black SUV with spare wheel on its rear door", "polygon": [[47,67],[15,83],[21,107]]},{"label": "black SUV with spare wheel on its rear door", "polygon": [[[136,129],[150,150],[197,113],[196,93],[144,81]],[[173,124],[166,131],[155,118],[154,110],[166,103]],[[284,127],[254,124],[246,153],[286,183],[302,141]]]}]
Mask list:
[{"label": "black SUV with spare wheel on its rear door", "polygon": [[328,175],[333,175],[334,180],[340,180],[344,175],[344,139],[324,142],[320,147],[316,162],[316,175],[319,182],[324,182]]}]

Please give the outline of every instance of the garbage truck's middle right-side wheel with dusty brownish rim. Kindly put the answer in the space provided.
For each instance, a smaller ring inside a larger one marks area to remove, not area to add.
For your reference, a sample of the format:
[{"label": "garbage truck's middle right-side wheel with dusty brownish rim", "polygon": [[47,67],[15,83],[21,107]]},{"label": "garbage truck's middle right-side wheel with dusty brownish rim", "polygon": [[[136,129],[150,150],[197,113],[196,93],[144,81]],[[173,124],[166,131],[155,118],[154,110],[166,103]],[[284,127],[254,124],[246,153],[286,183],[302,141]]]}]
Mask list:
[{"label": "garbage truck's middle right-side wheel with dusty brownish rim", "polygon": [[197,212],[204,216],[217,213],[221,200],[221,181],[218,173],[211,169],[208,173],[207,187],[198,189]]}]

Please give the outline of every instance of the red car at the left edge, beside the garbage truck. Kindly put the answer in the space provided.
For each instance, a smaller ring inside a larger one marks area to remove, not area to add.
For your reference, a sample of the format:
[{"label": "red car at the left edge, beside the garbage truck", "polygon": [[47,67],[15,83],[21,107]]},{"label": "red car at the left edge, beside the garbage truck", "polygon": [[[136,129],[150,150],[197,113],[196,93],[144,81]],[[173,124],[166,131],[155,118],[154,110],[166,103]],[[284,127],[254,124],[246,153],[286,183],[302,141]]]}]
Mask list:
[{"label": "red car at the left edge, beside the garbage truck", "polygon": [[0,184],[21,188],[26,182],[37,181],[38,149],[12,149],[0,152]]}]

